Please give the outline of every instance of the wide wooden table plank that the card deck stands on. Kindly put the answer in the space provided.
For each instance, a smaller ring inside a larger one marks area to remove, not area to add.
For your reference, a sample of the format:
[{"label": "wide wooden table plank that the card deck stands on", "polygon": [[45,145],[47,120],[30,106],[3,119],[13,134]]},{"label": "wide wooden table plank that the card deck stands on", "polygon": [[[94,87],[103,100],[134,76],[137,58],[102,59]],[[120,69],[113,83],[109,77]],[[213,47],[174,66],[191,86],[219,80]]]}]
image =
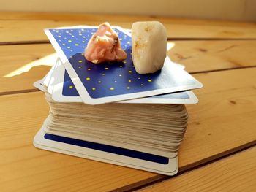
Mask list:
[{"label": "wide wooden table plank that the card deck stands on", "polygon": [[[182,171],[255,144],[255,73],[256,68],[195,75],[205,88],[195,91],[200,103],[187,106]],[[0,108],[1,191],[127,190],[164,177],[34,148],[34,134],[48,114],[42,92],[1,96]]]}]

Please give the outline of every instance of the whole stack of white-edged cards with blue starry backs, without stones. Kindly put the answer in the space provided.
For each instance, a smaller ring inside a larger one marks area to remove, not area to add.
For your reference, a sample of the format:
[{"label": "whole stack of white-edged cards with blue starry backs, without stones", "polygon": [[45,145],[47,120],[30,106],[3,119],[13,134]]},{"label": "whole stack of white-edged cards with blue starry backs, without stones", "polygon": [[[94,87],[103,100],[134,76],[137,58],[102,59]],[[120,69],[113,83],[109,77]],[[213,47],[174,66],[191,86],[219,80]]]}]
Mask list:
[{"label": "whole stack of white-edged cards with blue starry backs, without stones", "polygon": [[46,29],[59,55],[43,80],[50,114],[34,137],[36,147],[150,172],[178,172],[178,147],[188,114],[197,103],[192,89],[203,85],[165,59],[154,74],[132,64],[129,31],[113,27],[128,57],[92,64],[84,49],[96,26]]}]

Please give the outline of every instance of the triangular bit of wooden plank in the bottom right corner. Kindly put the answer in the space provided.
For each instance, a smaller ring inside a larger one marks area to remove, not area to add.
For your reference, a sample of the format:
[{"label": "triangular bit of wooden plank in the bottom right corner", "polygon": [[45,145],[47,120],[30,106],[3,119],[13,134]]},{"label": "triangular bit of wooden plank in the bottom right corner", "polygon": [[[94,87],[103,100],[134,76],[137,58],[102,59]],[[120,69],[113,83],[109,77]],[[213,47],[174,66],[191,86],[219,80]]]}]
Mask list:
[{"label": "triangular bit of wooden plank in the bottom right corner", "polygon": [[256,148],[140,191],[255,191]]}]

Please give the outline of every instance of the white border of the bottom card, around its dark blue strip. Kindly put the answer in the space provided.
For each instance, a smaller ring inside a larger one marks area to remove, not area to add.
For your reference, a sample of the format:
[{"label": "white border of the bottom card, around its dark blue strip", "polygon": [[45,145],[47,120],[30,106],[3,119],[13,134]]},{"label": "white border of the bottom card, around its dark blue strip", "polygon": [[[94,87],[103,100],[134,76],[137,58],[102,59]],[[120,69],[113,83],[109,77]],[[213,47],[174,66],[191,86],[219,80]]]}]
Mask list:
[{"label": "white border of the bottom card, around its dark blue strip", "polygon": [[[161,174],[173,175],[178,172],[177,157],[169,158],[170,163],[167,165],[162,165],[162,164],[157,164],[151,161],[145,161],[145,160],[140,160],[136,158],[126,157],[124,155],[116,155],[114,153],[93,150],[86,147],[80,147],[80,146],[69,145],[61,142],[55,142],[52,140],[45,139],[44,134],[45,133],[42,130],[42,128],[37,132],[36,136],[34,137],[35,147],[39,147],[46,150],[53,150],[53,151],[56,151],[59,153],[65,153],[68,155],[75,155],[83,158],[89,158],[96,161],[103,161],[110,164],[118,164],[121,166],[128,166],[135,169],[143,169],[150,172],[158,172]],[[83,150],[83,153],[81,153],[80,150]],[[84,154],[84,151],[86,151],[86,154]],[[127,161],[127,163],[124,163],[124,161]],[[154,167],[154,169],[152,169],[151,167]],[[166,169],[169,169],[171,171],[165,172]]]}]

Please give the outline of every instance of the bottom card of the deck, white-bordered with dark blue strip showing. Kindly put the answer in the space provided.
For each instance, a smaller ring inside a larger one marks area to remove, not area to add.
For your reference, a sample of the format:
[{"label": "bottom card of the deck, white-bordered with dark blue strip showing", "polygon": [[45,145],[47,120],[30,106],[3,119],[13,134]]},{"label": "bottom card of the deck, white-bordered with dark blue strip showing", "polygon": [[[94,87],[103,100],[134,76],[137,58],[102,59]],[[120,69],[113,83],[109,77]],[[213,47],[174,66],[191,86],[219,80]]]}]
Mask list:
[{"label": "bottom card of the deck, white-bordered with dark blue strip showing", "polygon": [[122,147],[87,142],[57,134],[47,134],[44,128],[45,123],[34,137],[34,146],[40,149],[159,174],[173,175],[178,172],[177,156],[166,158]]}]

